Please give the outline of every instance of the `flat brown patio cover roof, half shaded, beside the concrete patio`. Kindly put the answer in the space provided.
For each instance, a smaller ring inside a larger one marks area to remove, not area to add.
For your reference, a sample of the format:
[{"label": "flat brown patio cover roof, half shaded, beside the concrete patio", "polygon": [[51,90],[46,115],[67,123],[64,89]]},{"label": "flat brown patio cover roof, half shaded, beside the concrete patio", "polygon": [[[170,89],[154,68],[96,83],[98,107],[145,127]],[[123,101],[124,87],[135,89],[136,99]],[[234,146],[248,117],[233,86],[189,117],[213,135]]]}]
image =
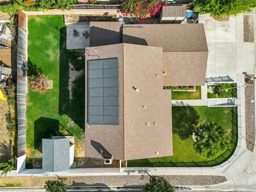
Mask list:
[{"label": "flat brown patio cover roof, half shaded, beside the concrete patio", "polygon": [[90,22],[90,46],[120,43],[120,22]]}]

